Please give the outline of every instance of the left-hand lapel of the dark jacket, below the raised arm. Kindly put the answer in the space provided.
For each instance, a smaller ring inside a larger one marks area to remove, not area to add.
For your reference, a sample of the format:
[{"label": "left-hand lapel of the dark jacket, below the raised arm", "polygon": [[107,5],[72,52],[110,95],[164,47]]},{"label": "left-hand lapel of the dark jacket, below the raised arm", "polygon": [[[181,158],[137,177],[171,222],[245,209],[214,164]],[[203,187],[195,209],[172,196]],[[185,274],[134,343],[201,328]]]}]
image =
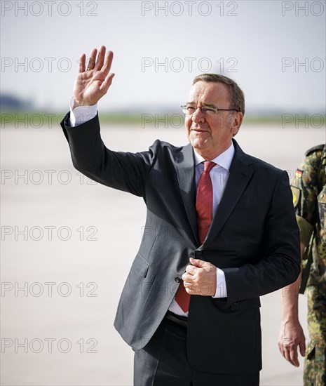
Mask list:
[{"label": "left-hand lapel of the dark jacket, below the raised arm", "polygon": [[197,213],[196,213],[196,182],[195,182],[195,161],[191,145],[182,147],[181,152],[175,158],[177,178],[182,194],[184,207],[188,216],[193,237],[198,243]]}]

